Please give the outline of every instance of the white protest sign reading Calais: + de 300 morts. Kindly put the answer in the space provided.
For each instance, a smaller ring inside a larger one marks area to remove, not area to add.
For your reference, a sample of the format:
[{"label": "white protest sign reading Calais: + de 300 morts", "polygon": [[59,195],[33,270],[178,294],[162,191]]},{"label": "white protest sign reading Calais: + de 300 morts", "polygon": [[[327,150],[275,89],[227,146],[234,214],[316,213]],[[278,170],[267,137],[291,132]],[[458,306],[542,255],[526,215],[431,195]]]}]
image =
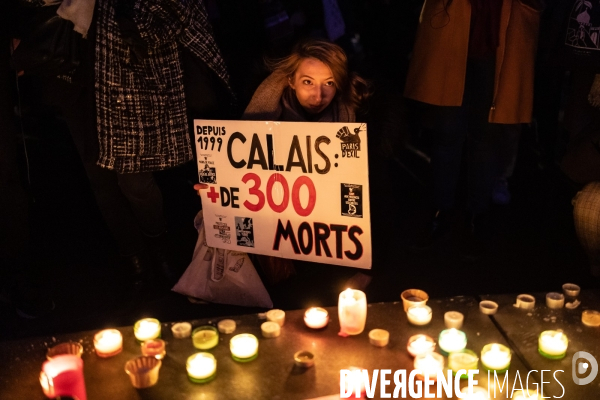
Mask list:
[{"label": "white protest sign reading Calais: + de 300 morts", "polygon": [[367,127],[195,120],[211,247],[371,268]]}]

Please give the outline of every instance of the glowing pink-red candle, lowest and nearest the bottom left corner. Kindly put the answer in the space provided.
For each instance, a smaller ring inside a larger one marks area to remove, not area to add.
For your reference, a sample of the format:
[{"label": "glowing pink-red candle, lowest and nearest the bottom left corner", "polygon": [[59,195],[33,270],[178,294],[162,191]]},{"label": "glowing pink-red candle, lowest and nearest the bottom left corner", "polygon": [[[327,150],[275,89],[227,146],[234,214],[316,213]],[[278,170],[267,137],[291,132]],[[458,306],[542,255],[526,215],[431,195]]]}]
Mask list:
[{"label": "glowing pink-red candle, lowest and nearest the bottom left corner", "polygon": [[60,396],[87,400],[83,379],[83,360],[72,354],[58,355],[44,362],[40,384],[49,398]]}]

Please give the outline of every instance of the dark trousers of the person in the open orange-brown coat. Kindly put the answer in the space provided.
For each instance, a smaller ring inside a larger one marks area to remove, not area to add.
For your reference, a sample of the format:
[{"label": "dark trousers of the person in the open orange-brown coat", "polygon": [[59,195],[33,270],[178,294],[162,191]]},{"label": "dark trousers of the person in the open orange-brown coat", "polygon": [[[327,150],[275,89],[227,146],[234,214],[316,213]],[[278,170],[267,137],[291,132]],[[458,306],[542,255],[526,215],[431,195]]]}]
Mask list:
[{"label": "dark trousers of the person in the open orange-brown coat", "polygon": [[467,210],[472,214],[489,208],[495,172],[494,139],[502,126],[488,122],[494,93],[494,60],[469,61],[463,104],[432,106],[433,203],[437,209],[455,207],[463,148],[467,144]]}]

